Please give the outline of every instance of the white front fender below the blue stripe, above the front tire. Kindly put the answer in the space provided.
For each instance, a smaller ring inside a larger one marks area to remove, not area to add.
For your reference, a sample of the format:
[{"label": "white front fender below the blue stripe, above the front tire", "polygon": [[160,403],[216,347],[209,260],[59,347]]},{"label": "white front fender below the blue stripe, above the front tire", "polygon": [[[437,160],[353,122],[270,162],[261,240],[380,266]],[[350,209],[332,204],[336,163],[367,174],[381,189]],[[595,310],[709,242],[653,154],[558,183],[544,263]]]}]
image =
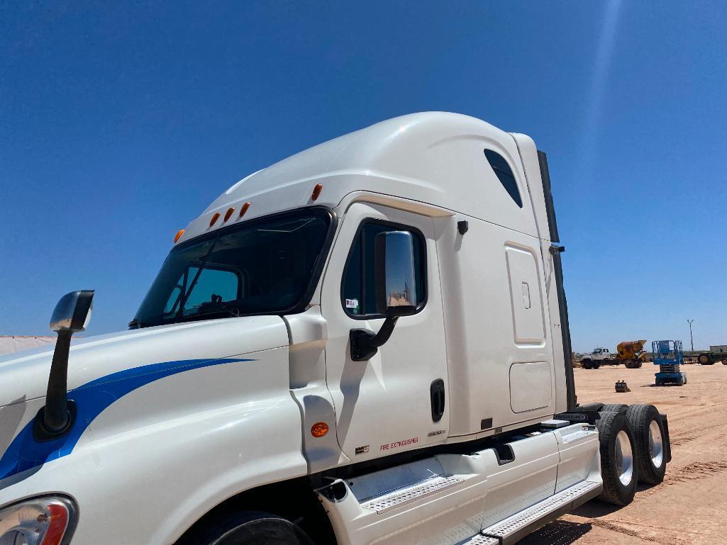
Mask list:
[{"label": "white front fender below the blue stripe, above the front tire", "polygon": [[68,455],[0,489],[0,505],[49,483],[75,498],[73,545],[172,543],[226,498],[307,470],[287,347],[169,374],[83,424]]}]

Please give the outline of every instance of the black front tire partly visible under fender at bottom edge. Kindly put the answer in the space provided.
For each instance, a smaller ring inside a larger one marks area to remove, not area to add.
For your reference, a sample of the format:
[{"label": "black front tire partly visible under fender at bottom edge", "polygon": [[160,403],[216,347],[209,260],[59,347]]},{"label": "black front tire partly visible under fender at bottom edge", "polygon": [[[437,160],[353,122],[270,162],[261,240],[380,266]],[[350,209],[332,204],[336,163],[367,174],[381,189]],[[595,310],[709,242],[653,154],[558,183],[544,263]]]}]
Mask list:
[{"label": "black front tire partly visible under fender at bottom edge", "polygon": [[193,529],[176,545],[313,545],[289,520],[263,512],[228,514]]}]

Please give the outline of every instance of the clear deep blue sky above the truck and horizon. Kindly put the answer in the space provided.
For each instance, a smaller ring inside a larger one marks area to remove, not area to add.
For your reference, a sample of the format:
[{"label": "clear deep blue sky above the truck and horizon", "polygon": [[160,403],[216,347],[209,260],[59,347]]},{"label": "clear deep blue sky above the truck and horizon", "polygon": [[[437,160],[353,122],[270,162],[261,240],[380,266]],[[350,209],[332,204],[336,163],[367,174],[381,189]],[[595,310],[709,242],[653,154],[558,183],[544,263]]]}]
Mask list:
[{"label": "clear deep blue sky above the truck and horizon", "polygon": [[0,7],[0,334],[123,329],[233,182],[450,110],[547,151],[575,350],[727,343],[726,4],[100,4]]}]

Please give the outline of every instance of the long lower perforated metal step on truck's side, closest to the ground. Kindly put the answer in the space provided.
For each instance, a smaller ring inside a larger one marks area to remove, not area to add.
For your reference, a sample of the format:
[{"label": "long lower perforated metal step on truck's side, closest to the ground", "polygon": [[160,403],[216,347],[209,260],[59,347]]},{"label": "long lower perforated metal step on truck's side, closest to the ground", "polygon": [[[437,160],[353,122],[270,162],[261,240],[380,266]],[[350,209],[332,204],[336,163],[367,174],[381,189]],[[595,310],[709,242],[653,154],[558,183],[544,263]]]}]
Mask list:
[{"label": "long lower perforated metal step on truck's side, closest to the ground", "polygon": [[537,525],[537,522],[542,522],[542,524],[550,522],[554,517],[569,511],[574,501],[584,498],[584,496],[586,496],[584,501],[587,501],[601,493],[601,489],[601,483],[582,481],[484,528],[481,533],[468,539],[462,545],[497,545],[500,540],[503,543],[513,543],[522,537],[518,534],[523,533],[523,530],[526,530],[527,533],[533,531],[535,529],[533,526]]}]

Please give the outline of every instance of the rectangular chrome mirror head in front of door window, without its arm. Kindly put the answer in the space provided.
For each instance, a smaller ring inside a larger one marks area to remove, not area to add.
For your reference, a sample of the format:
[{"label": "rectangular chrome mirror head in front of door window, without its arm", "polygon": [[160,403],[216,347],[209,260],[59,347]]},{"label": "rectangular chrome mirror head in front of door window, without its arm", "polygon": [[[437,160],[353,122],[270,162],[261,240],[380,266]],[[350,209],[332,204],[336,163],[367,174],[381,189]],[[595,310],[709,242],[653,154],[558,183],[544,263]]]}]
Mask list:
[{"label": "rectangular chrome mirror head in front of door window, without its arm", "polygon": [[406,316],[417,312],[414,237],[409,231],[376,235],[374,270],[379,314]]}]

